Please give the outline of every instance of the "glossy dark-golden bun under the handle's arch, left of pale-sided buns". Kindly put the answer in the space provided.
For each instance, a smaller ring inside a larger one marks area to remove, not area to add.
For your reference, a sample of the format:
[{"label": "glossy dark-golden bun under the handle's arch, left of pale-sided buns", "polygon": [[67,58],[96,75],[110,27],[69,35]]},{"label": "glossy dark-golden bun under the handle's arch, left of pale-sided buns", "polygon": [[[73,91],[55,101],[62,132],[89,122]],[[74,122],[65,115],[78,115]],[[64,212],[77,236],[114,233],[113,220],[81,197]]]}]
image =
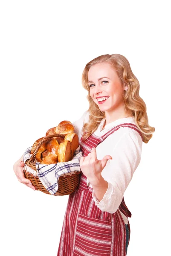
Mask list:
[{"label": "glossy dark-golden bun under the handle's arch, left of pale-sided buns", "polygon": [[41,164],[58,163],[58,148],[57,140],[49,140],[41,145],[35,158]]}]

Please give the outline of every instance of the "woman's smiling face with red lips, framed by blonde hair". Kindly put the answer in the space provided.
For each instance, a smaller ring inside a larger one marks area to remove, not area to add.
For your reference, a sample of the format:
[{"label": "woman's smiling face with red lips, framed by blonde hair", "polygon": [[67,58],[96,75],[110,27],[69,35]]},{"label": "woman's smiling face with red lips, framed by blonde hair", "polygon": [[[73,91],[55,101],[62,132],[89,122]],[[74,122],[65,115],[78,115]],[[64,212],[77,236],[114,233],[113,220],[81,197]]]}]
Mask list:
[{"label": "woman's smiling face with red lips, framed by blonde hair", "polygon": [[90,67],[88,81],[90,96],[101,111],[118,111],[123,114],[123,94],[128,86],[122,84],[116,70],[110,64],[100,63]]}]

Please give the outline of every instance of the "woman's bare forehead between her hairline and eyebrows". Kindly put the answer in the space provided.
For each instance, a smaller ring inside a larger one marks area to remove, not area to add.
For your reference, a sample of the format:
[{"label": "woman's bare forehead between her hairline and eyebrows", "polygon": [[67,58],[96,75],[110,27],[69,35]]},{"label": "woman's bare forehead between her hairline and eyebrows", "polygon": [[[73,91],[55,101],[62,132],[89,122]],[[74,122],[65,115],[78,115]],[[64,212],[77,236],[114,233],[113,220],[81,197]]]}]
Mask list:
[{"label": "woman's bare forehead between her hairline and eyebrows", "polygon": [[117,76],[116,70],[114,70],[108,63],[95,64],[90,67],[88,72],[88,80],[99,79],[103,76],[107,76],[112,79]]}]

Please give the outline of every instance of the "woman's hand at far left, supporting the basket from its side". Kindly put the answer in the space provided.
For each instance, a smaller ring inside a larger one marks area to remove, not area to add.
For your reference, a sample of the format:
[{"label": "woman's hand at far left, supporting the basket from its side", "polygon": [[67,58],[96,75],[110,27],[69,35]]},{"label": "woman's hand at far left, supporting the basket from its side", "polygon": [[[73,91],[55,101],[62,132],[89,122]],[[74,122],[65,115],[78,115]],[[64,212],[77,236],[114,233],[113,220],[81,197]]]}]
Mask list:
[{"label": "woman's hand at far left, supporting the basket from its side", "polygon": [[14,173],[17,176],[18,181],[20,181],[21,183],[23,183],[24,185],[28,186],[33,190],[38,190],[35,188],[35,186],[32,185],[30,180],[26,179],[23,171],[24,162],[21,160],[21,158],[16,163],[14,163],[14,166],[13,166]]}]

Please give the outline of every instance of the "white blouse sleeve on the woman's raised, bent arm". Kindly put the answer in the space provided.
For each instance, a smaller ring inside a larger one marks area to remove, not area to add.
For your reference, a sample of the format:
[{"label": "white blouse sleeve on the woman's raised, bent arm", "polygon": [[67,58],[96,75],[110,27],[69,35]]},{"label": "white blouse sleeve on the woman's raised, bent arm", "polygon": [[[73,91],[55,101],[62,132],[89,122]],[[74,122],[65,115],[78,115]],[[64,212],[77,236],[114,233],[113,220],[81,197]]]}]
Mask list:
[{"label": "white blouse sleeve on the woman's raised, bent arm", "polygon": [[[113,151],[110,154],[112,160],[108,160],[101,173],[108,182],[108,189],[100,202],[97,200],[95,192],[92,193],[97,207],[110,213],[116,212],[121,204],[124,192],[141,159],[142,141],[139,134],[130,128],[120,128],[119,130],[118,135],[122,133],[123,135],[117,144],[113,145]],[[115,133],[113,133],[113,137],[116,135]],[[104,142],[107,143],[107,139]],[[101,146],[104,142],[101,143]],[[111,145],[112,137],[110,138],[110,147]],[[109,153],[108,151],[107,154]]]}]

